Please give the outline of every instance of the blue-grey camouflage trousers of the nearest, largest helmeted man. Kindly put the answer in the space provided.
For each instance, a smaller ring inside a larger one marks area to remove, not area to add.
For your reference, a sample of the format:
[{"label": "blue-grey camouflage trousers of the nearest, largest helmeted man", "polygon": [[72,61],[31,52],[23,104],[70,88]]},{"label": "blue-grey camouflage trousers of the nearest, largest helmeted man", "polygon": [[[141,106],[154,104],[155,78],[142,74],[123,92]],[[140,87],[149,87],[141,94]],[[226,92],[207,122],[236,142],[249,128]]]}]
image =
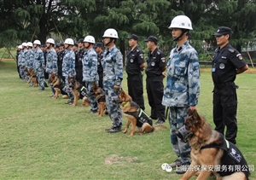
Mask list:
[{"label": "blue-grey camouflage trousers of the nearest, largest helmeted man", "polygon": [[178,159],[182,163],[190,162],[190,146],[189,142],[183,142],[181,139],[177,138],[176,131],[184,125],[185,119],[188,118],[188,108],[189,107],[170,107],[169,122],[171,125],[171,143],[172,149],[175,154],[177,154]]}]

